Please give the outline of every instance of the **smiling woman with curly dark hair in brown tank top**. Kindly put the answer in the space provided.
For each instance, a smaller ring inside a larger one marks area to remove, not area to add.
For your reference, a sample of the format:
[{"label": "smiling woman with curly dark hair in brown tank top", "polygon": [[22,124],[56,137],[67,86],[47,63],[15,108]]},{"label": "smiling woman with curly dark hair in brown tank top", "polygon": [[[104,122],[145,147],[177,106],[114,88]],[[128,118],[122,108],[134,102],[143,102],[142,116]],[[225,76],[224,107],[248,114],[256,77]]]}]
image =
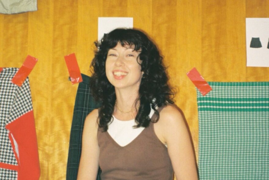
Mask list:
[{"label": "smiling woman with curly dark hair in brown tank top", "polygon": [[116,29],[96,42],[91,89],[101,107],[83,130],[78,179],[197,180],[193,149],[162,57],[142,31]]}]

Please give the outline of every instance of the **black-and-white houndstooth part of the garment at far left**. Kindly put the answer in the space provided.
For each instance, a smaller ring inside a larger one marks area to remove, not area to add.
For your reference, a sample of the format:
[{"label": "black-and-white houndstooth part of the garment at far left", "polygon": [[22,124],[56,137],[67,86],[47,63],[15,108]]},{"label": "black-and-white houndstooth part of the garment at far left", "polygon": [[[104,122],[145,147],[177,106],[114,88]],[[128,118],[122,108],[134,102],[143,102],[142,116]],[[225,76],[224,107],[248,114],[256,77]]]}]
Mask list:
[{"label": "black-and-white houndstooth part of the garment at far left", "polygon": [[[6,125],[33,109],[28,78],[20,87],[11,82],[17,70],[4,68],[0,73],[0,162],[12,165],[18,164]],[[0,168],[0,179],[15,180],[17,171]]]}]

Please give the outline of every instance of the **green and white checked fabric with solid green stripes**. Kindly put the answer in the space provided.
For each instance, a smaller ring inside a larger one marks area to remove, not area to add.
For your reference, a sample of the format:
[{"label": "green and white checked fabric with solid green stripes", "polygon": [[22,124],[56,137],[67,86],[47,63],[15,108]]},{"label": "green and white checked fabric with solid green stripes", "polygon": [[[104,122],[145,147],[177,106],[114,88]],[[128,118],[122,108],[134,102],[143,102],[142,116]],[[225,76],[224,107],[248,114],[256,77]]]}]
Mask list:
[{"label": "green and white checked fabric with solid green stripes", "polygon": [[269,179],[269,82],[197,90],[200,180]]}]

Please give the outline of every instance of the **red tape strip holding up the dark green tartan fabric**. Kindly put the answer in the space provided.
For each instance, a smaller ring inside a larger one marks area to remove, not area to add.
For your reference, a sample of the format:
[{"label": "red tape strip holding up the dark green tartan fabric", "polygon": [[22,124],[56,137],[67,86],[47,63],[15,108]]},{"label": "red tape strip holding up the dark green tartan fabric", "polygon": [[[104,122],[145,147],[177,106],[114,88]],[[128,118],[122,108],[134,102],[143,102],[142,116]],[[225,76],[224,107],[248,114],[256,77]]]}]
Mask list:
[{"label": "red tape strip holding up the dark green tartan fabric", "polygon": [[75,53],[64,56],[64,59],[72,84],[82,82],[82,76],[79,70],[79,65]]}]

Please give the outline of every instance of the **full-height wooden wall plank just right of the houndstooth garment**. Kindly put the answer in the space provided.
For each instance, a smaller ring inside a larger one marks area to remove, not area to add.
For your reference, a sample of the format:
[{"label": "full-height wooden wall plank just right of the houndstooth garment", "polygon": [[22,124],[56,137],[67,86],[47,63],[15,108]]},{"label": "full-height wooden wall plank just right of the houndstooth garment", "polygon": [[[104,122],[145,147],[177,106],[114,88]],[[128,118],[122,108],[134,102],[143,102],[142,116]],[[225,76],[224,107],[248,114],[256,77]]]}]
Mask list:
[{"label": "full-height wooden wall plank just right of the houndstooth garment", "polygon": [[[35,126],[37,131],[40,179],[49,174],[53,148],[50,143],[52,111],[52,64],[53,64],[53,0],[39,1],[38,11],[30,12],[28,19],[28,53],[39,59],[29,75]],[[22,63],[22,61],[21,61]],[[19,66],[19,65],[18,65]]]}]

